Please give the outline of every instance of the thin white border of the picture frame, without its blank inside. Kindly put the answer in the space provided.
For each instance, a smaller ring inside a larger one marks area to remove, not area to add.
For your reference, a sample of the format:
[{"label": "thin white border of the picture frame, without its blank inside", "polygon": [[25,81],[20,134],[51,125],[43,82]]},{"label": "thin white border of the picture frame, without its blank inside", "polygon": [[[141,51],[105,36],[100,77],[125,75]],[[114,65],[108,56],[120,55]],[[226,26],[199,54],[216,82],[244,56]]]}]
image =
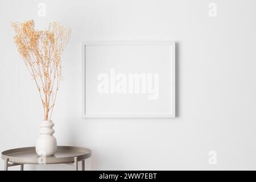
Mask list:
[{"label": "thin white border of the picture frame, without its blank inside", "polygon": [[[172,46],[172,114],[86,114],[85,113],[85,46],[112,46],[112,45],[159,45]],[[175,118],[175,42],[170,41],[143,41],[143,42],[82,42],[82,117],[83,118]]]}]

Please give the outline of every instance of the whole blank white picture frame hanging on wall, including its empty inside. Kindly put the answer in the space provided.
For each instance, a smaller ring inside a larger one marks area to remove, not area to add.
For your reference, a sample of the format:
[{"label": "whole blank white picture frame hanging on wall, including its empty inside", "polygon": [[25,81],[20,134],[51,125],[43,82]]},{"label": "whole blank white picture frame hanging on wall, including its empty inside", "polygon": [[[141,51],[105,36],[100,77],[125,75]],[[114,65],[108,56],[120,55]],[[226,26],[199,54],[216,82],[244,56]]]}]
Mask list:
[{"label": "whole blank white picture frame hanging on wall, including its empty inside", "polygon": [[82,43],[85,118],[174,118],[174,42]]}]

